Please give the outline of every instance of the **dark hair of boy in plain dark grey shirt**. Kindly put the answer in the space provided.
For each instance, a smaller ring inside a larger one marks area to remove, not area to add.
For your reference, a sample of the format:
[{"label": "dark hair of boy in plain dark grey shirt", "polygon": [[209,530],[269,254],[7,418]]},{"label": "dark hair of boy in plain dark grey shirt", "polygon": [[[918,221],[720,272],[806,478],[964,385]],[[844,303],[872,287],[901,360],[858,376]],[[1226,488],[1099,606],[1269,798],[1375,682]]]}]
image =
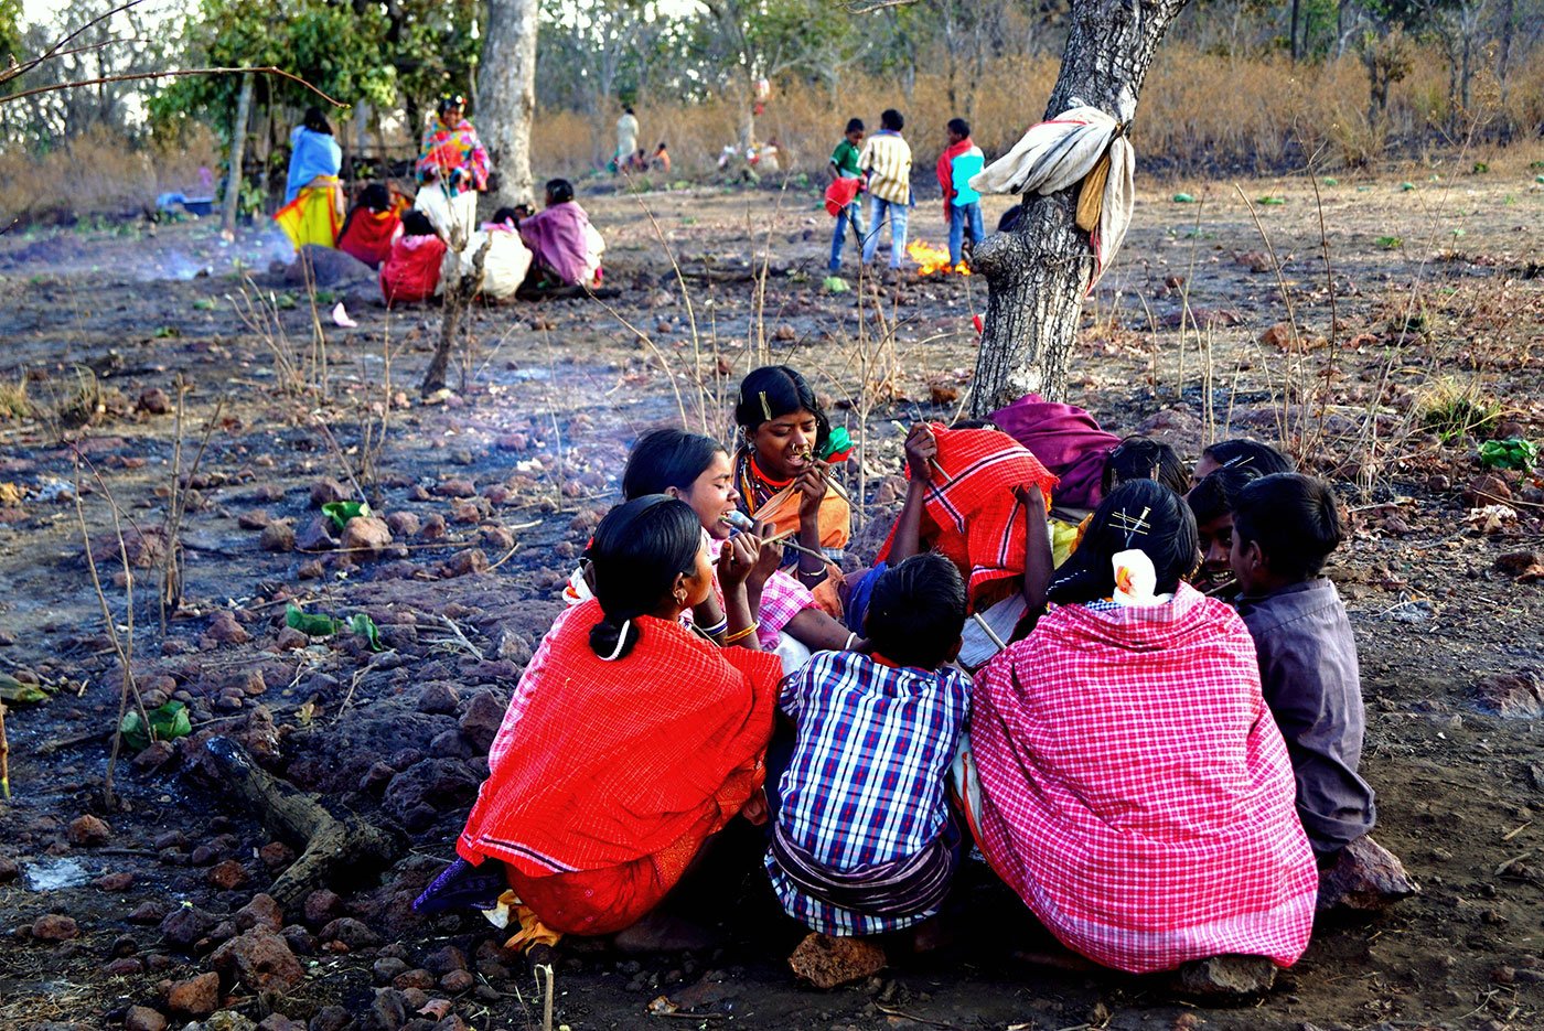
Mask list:
[{"label": "dark hair of boy in plain dark grey shirt", "polygon": [[1329,485],[1300,472],[1274,472],[1246,483],[1234,499],[1234,539],[1257,543],[1275,576],[1319,576],[1345,540],[1340,505]]}]

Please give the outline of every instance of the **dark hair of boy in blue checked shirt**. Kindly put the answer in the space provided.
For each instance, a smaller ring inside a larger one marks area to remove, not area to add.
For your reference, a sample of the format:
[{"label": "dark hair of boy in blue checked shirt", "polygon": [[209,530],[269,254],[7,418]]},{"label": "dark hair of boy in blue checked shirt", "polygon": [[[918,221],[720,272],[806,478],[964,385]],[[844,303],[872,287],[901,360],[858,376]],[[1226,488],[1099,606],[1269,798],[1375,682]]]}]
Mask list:
[{"label": "dark hair of boy in blue checked shirt", "polygon": [[953,657],[963,628],[965,580],[936,551],[885,570],[863,617],[863,636],[877,654],[923,670]]}]

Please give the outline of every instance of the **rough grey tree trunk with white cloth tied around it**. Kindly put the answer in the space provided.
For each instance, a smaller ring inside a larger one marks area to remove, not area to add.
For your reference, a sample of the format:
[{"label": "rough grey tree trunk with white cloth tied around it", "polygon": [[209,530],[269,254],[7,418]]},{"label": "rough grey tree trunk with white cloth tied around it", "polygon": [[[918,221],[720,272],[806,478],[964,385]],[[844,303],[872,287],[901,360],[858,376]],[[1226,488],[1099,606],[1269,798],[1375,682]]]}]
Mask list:
[{"label": "rough grey tree trunk with white cloth tied around it", "polygon": [[[1061,76],[1044,117],[1090,105],[1130,122],[1158,42],[1184,3],[1073,0]],[[1073,221],[1076,199],[1078,187],[1028,194],[1017,227],[976,247],[974,265],[987,276],[987,323],[971,392],[977,418],[1024,394],[1061,400],[1067,392],[1067,360],[1093,276],[1089,235]]]}]

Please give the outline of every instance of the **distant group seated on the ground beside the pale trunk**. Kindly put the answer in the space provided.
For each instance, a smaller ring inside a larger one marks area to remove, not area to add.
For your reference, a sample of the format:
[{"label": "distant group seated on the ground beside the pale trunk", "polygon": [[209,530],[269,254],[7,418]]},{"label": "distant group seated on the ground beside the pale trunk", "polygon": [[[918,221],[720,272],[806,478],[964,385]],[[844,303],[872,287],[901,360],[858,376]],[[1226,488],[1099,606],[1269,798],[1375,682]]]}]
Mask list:
[{"label": "distant group seated on the ground beside the pale trunk", "polygon": [[479,295],[489,301],[513,298],[522,287],[599,286],[605,241],[574,201],[573,185],[550,181],[545,201],[540,211],[500,208],[491,222],[469,230],[440,190],[420,188],[414,207],[405,208],[384,185],[371,184],[343,221],[337,247],[380,270],[386,307],[438,296],[446,282],[472,273],[479,255]]}]

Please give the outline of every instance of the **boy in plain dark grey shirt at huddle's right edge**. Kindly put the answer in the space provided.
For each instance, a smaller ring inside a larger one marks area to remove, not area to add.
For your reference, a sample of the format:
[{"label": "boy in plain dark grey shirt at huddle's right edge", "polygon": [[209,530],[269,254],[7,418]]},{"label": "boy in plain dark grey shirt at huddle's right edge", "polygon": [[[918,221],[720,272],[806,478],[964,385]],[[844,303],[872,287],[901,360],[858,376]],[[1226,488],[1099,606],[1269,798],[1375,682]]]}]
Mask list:
[{"label": "boy in plain dark grey shirt at huddle's right edge", "polygon": [[1336,585],[1319,576],[1343,531],[1334,492],[1278,472],[1234,502],[1232,566],[1238,614],[1260,656],[1265,701],[1297,778],[1297,812],[1320,861],[1377,820],[1362,759],[1362,679],[1356,639]]}]

